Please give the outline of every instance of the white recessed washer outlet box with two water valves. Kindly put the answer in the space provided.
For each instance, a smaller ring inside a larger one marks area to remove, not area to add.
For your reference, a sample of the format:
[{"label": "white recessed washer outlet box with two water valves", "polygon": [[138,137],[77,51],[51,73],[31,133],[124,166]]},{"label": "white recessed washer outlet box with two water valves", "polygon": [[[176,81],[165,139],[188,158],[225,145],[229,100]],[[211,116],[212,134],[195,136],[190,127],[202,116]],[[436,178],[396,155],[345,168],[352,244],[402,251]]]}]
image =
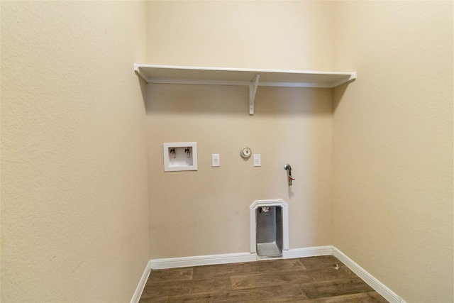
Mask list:
[{"label": "white recessed washer outlet box with two water valves", "polygon": [[164,143],[164,171],[197,170],[197,143]]}]

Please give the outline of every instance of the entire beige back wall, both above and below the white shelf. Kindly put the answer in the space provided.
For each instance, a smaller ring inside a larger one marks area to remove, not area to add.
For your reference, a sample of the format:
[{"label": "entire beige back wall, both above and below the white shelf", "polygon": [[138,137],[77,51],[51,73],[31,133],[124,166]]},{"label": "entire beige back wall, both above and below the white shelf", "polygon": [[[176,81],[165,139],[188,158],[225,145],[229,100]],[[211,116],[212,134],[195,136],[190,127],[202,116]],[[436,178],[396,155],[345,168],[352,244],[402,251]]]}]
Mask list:
[{"label": "entire beige back wall, both above and below the white shelf", "polygon": [[[333,4],[150,1],[148,63],[330,70]],[[259,87],[148,86],[150,257],[243,253],[249,206],[289,204],[289,247],[331,239],[332,92]],[[196,141],[199,170],[164,172],[162,143]],[[240,158],[248,145],[262,167]],[[211,167],[211,154],[221,167]],[[289,189],[283,165],[296,178]]]}]

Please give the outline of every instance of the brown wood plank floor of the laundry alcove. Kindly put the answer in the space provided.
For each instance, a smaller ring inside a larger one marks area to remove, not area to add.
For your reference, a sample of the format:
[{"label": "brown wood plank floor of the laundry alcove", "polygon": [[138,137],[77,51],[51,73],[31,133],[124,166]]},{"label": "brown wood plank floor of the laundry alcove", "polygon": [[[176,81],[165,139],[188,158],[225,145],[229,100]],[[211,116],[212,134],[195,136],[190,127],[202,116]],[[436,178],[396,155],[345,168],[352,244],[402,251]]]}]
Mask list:
[{"label": "brown wood plank floor of the laundry alcove", "polygon": [[369,303],[387,300],[337,258],[324,255],[152,270],[139,302]]}]

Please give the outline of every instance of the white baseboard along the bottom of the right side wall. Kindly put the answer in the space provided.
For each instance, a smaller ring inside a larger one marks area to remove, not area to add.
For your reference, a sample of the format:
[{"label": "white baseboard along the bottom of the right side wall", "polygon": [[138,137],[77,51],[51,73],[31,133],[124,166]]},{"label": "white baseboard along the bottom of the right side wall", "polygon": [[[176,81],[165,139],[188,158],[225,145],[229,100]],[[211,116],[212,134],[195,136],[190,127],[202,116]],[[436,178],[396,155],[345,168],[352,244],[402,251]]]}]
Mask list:
[{"label": "white baseboard along the bottom of the right side wall", "polygon": [[377,280],[369,272],[367,272],[360,265],[356,264],[352,259],[348,258],[347,255],[338,250],[338,248],[333,246],[333,255],[338,258],[345,266],[350,268],[355,272],[358,277],[360,277],[364,282],[366,282],[370,287],[372,287],[376,292],[381,294],[384,299],[387,299],[391,303],[406,303],[404,299],[399,297],[395,292],[390,290],[386,285]]}]

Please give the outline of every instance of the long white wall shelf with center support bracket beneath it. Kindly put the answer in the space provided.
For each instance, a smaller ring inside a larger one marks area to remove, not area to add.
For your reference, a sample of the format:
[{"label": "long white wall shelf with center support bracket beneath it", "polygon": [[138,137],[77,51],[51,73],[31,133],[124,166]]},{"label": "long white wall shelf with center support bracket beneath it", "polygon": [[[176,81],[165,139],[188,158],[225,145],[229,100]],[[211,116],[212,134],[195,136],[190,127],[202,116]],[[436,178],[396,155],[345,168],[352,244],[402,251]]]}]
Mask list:
[{"label": "long white wall shelf with center support bracket beneath it", "polygon": [[356,72],[306,72],[300,70],[250,70],[134,64],[135,73],[147,83],[212,84],[249,87],[249,114],[254,114],[257,87],[333,88],[356,79]]}]

